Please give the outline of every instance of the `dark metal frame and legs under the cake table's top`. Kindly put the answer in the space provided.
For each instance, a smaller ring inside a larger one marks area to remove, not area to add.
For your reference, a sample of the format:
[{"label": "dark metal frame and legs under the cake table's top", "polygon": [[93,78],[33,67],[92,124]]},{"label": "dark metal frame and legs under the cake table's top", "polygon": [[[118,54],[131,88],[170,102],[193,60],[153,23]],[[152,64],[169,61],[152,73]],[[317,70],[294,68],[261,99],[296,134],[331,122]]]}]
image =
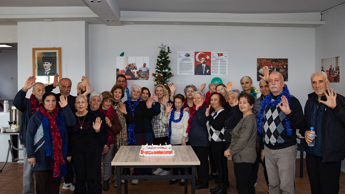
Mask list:
[{"label": "dark metal frame and legs under the cake table's top", "polygon": [[[184,175],[129,175],[127,176],[126,168],[166,168],[166,167],[183,167],[185,168]],[[188,175],[187,168],[192,168],[192,174]],[[188,179],[191,179],[191,193],[195,194],[195,167],[196,165],[121,165],[116,166],[116,177],[117,177],[117,193],[121,193],[121,180],[125,180],[125,194],[128,193],[128,182],[127,180],[166,180],[166,179],[185,179],[185,194],[188,193]],[[120,168],[124,168],[124,175],[120,175]]]}]

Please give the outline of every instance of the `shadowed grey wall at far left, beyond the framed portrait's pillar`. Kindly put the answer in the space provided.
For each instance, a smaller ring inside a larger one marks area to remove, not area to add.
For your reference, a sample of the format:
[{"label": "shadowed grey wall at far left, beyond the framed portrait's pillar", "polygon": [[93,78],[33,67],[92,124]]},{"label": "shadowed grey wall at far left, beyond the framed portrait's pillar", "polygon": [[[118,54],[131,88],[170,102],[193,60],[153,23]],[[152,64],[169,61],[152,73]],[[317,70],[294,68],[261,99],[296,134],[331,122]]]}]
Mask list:
[{"label": "shadowed grey wall at far left, beyond the framed portrait's pillar", "polygon": [[0,50],[0,99],[14,99],[17,94],[17,50]]}]

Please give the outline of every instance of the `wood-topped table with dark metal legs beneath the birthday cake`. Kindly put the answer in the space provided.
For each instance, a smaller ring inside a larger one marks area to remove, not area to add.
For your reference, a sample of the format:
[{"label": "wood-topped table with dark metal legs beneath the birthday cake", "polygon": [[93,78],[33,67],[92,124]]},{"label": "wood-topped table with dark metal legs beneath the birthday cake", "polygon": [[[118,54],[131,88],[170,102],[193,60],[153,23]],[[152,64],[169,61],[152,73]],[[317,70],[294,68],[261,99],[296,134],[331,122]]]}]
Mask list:
[{"label": "wood-topped table with dark metal legs beneath the birthday cake", "polygon": [[[149,179],[185,179],[185,193],[188,191],[188,179],[191,179],[191,193],[195,194],[195,166],[200,165],[198,157],[195,155],[190,145],[173,145],[175,156],[139,156],[141,146],[121,146],[111,161],[116,167],[117,193],[121,193],[121,180],[125,180],[125,194],[128,193],[127,180],[149,180]],[[152,168],[152,167],[184,167],[184,175],[120,175],[120,168]],[[192,174],[187,174],[187,168],[191,167]]]}]

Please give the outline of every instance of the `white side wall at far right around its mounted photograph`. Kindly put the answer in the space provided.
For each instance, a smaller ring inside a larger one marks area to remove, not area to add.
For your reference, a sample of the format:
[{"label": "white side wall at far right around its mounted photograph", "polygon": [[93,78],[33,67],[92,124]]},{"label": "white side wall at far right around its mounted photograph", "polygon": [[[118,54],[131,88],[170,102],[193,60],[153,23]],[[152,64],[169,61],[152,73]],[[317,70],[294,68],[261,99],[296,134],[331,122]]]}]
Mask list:
[{"label": "white side wall at far right around its mounted photograph", "polygon": [[[340,70],[345,69],[345,6],[323,14],[325,25],[315,28],[315,71],[321,71],[321,59],[340,56]],[[345,95],[345,75],[339,83],[329,83],[337,93]],[[345,166],[344,166],[345,167]]]}]

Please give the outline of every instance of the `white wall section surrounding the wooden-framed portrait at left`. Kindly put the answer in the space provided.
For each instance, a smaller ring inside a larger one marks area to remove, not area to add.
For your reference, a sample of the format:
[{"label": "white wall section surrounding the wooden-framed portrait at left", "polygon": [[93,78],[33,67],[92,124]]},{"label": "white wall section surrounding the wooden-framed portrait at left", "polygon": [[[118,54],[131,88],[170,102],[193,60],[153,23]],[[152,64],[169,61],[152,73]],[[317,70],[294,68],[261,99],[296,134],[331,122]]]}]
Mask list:
[{"label": "white wall section surrounding the wooden-framed portrait at left", "polygon": [[[84,21],[18,22],[18,89],[32,75],[32,48],[61,47],[61,76],[72,80],[71,94],[76,95],[88,60],[87,25]],[[58,87],[53,92],[59,93]]]}]

